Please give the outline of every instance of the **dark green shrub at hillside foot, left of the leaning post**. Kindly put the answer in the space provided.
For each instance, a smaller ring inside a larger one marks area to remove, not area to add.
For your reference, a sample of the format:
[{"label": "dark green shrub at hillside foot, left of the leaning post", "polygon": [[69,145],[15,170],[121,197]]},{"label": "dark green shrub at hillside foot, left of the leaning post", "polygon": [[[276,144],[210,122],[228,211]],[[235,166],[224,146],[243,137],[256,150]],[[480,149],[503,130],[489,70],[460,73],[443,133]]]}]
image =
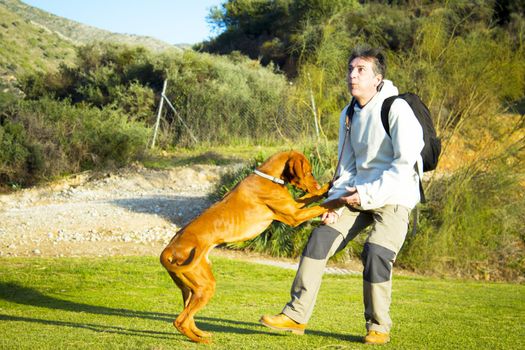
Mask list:
[{"label": "dark green shrub at hillside foot, left of the leaning post", "polygon": [[153,113],[151,91],[160,92],[164,75],[154,55],[142,47],[93,43],[77,48],[75,65],[61,64],[56,72],[29,74],[21,80],[29,99],[52,96],[101,108],[128,99],[119,107],[133,113],[137,105],[129,98],[139,97],[141,109]]}]

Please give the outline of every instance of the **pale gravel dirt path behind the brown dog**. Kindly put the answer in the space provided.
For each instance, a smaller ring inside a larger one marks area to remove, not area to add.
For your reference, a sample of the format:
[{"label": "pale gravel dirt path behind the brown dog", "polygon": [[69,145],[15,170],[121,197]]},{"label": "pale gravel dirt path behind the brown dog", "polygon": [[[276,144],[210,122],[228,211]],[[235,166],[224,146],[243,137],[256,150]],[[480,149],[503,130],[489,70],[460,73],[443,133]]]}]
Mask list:
[{"label": "pale gravel dirt path behind the brown dog", "polygon": [[226,167],[132,166],[0,196],[0,256],[159,254]]}]

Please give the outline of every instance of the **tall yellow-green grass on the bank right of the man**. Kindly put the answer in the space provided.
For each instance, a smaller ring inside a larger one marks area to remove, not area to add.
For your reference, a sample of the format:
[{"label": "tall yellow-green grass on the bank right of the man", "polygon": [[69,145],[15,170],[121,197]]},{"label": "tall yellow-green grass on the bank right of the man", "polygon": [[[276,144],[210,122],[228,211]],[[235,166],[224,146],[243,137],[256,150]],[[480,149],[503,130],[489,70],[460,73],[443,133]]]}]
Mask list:
[{"label": "tall yellow-green grass on the bank right of the man", "polygon": [[489,143],[485,154],[429,184],[421,233],[403,248],[402,265],[478,279],[523,278],[525,134],[506,130],[506,144]]}]

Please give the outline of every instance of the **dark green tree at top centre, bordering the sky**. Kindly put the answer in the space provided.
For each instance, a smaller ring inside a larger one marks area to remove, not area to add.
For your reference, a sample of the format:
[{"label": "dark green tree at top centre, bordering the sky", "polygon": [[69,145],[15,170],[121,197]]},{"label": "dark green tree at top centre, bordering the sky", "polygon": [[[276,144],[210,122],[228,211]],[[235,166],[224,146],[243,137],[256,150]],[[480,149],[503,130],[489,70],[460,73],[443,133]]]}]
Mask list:
[{"label": "dark green tree at top centre, bordering the sky", "polygon": [[208,16],[222,33],[197,49],[220,54],[239,51],[295,76],[301,52],[294,48],[300,45],[303,26],[322,24],[348,6],[357,6],[357,0],[229,0]]}]

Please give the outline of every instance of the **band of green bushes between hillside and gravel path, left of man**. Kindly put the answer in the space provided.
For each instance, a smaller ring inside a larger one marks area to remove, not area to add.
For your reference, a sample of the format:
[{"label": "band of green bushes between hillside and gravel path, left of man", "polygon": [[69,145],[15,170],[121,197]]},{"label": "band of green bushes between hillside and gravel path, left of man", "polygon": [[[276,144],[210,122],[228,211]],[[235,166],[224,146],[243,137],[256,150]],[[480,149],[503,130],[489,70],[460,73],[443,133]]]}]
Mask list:
[{"label": "band of green bushes between hillside and gravel path, left of man", "polygon": [[253,61],[97,43],[78,47],[74,64],[21,76],[24,100],[4,100],[1,182],[27,186],[141,158],[165,79],[174,110],[161,115],[161,149],[270,145],[305,129],[302,115],[289,110],[284,77]]}]

